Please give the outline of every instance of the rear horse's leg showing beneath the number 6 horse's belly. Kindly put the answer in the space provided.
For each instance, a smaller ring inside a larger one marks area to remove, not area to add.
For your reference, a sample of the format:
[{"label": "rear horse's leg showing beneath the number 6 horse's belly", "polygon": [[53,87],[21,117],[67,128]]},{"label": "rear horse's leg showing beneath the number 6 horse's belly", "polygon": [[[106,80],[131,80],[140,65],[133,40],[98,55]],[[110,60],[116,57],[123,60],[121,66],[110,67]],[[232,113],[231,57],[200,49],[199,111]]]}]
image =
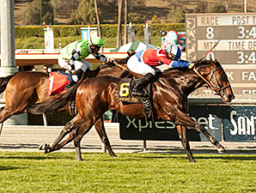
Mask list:
[{"label": "rear horse's leg showing beneath the number 6 horse's belly", "polygon": [[117,157],[116,154],[113,153],[113,149],[111,148],[110,142],[107,137],[107,133],[104,127],[103,119],[99,118],[96,123],[94,124],[95,130],[98,132],[98,135],[101,137],[101,142],[107,148],[108,154],[111,157]]}]

